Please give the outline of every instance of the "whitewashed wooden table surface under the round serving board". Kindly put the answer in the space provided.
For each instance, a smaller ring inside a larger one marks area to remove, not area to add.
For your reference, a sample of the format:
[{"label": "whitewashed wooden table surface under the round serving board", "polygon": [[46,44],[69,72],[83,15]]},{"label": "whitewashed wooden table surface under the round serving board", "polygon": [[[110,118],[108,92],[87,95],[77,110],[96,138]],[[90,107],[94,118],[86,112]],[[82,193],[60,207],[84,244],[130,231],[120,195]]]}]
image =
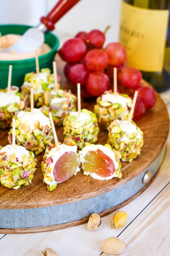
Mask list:
[{"label": "whitewashed wooden table surface under the round serving board", "polygon": [[[162,93],[161,97],[170,114],[170,90]],[[170,133],[157,177],[141,195],[120,209],[128,214],[124,228],[112,230],[112,214],[109,214],[102,218],[102,225],[96,231],[88,231],[87,224],[83,224],[51,232],[0,234],[0,255],[38,256],[46,247],[51,247],[59,256],[99,256],[102,242],[111,236],[117,236],[126,243],[121,255],[170,255],[169,156]]]}]

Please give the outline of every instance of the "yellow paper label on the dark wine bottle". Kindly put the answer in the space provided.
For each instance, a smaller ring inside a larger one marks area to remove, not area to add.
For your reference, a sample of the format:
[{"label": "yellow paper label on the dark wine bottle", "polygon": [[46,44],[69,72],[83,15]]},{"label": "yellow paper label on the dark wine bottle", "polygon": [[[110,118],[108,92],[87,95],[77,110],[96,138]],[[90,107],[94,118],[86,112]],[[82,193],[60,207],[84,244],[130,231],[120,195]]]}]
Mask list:
[{"label": "yellow paper label on the dark wine bottle", "polygon": [[168,10],[144,9],[122,1],[119,42],[127,50],[128,66],[162,71],[168,18]]}]

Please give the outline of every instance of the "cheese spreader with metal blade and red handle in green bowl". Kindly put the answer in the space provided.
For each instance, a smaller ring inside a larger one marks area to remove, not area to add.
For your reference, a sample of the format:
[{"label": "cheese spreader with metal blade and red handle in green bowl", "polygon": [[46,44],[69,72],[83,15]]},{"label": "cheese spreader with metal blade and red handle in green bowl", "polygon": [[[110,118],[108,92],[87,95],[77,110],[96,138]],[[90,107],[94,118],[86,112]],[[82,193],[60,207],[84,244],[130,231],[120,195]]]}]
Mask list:
[{"label": "cheese spreader with metal blade and red handle in green bowl", "polygon": [[35,28],[29,28],[12,46],[1,52],[27,53],[37,50],[44,43],[44,33],[54,30],[56,22],[80,0],[59,0],[52,11],[41,17],[41,23]]}]

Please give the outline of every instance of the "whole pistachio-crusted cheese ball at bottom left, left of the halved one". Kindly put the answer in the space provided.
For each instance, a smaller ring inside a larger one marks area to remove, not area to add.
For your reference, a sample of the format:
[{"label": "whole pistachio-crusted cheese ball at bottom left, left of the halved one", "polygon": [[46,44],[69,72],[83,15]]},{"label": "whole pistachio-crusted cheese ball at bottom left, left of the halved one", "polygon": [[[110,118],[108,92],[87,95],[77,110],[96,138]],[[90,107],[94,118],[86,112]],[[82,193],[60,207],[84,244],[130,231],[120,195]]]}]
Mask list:
[{"label": "whole pistachio-crusted cheese ball at bottom left, left of the halved one", "polygon": [[19,189],[31,183],[36,170],[36,159],[23,146],[0,147],[0,182],[3,186]]}]

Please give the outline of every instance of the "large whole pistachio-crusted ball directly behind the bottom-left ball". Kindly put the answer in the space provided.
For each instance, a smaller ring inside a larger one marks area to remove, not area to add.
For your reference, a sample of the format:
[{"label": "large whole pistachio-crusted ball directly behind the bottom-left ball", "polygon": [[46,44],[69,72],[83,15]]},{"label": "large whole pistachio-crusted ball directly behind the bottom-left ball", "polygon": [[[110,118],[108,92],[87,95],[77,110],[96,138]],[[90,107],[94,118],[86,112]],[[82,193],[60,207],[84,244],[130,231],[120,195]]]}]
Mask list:
[{"label": "large whole pistachio-crusted ball directly behind the bottom-left ball", "polygon": [[[24,146],[37,155],[53,140],[50,119],[41,109],[34,108],[33,115],[28,111],[20,111],[14,117],[17,145]],[[8,141],[12,144],[12,128],[8,133]]]}]

